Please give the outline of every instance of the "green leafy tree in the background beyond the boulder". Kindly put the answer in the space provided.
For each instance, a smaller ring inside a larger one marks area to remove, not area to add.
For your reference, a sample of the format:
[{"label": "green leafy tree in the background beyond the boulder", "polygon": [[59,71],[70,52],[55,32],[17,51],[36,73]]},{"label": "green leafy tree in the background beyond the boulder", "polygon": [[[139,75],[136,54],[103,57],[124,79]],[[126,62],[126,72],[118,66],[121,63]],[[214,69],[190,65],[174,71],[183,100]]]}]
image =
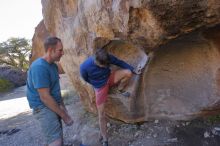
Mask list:
[{"label": "green leafy tree in the background beyond the boulder", "polygon": [[0,43],[0,65],[10,65],[23,71],[28,69],[30,41],[25,38],[10,38]]}]

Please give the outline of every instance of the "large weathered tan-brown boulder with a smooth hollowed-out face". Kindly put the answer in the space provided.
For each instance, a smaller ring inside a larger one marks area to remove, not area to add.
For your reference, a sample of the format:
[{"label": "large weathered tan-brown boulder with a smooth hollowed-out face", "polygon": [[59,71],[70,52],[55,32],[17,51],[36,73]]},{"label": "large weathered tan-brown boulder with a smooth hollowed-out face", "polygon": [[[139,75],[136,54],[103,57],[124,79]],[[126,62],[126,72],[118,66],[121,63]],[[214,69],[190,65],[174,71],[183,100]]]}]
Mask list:
[{"label": "large weathered tan-brown boulder with a smooth hollowed-out face", "polygon": [[[132,123],[218,110],[219,0],[42,0],[42,5],[46,30],[64,45],[62,67],[88,110],[96,111],[90,103],[95,95],[79,77],[79,65],[106,43],[133,66],[151,54],[143,74],[129,83],[130,98],[109,94],[109,116]],[[213,33],[201,33],[213,26]]]}]

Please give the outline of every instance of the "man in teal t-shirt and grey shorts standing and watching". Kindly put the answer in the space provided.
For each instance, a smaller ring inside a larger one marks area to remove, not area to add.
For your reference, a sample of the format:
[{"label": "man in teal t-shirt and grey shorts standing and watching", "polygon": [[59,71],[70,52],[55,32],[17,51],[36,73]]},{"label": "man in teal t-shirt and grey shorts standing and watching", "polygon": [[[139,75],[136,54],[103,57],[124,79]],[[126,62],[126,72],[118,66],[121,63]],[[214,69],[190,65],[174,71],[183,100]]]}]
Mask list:
[{"label": "man in teal t-shirt and grey shorts standing and watching", "polygon": [[39,121],[49,146],[63,145],[61,119],[68,126],[73,120],[68,115],[61,98],[58,66],[63,56],[63,45],[59,38],[49,37],[44,42],[46,54],[35,60],[28,71],[27,99]]}]

